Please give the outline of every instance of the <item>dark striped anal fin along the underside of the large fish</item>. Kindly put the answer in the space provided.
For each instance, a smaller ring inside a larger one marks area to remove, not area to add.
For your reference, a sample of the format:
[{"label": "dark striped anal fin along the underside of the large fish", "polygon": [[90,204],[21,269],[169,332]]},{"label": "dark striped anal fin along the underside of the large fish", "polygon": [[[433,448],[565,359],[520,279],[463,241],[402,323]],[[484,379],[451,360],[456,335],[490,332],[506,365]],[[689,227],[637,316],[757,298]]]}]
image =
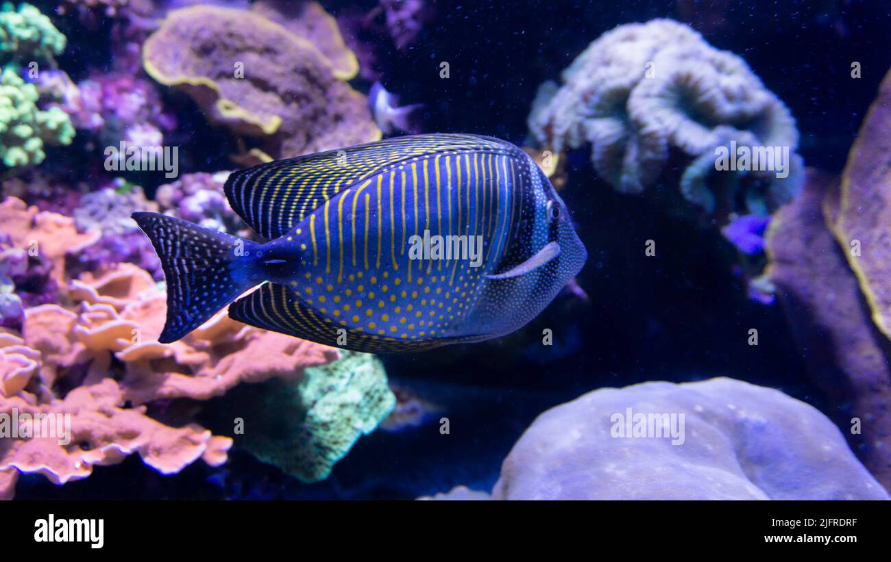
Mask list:
[{"label": "dark striped anal fin along the underside of the large fish", "polygon": [[229,317],[265,330],[364,353],[421,351],[458,341],[448,338],[401,340],[343,328],[300,301],[287,286],[275,283],[260,285],[253,293],[233,302],[229,305]]}]

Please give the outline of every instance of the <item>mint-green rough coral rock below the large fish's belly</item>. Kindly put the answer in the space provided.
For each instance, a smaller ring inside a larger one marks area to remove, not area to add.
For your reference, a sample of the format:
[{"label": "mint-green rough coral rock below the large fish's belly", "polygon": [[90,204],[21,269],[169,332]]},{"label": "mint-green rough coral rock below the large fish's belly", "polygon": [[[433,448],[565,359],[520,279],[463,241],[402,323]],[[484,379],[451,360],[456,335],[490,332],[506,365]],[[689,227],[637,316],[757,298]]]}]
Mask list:
[{"label": "mint-green rough coral rock below the large fish's belly", "polygon": [[377,357],[341,354],[338,361],[307,368],[299,381],[275,381],[264,389],[251,404],[239,445],[304,482],[328,478],[334,463],[396,406]]}]

